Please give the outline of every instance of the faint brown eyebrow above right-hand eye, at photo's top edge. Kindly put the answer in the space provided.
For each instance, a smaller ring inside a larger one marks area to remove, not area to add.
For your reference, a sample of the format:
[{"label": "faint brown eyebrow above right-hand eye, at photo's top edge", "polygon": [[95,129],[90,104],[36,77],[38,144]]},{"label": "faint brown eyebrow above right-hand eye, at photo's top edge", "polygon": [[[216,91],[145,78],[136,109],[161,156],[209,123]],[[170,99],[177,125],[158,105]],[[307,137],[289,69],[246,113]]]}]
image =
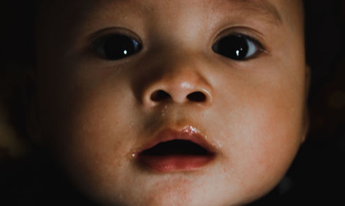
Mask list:
[{"label": "faint brown eyebrow above right-hand eye, at photo's top edge", "polygon": [[245,7],[248,10],[258,12],[266,17],[270,23],[280,25],[283,23],[282,16],[278,12],[275,6],[265,0],[227,0],[230,3],[238,4],[239,6]]}]

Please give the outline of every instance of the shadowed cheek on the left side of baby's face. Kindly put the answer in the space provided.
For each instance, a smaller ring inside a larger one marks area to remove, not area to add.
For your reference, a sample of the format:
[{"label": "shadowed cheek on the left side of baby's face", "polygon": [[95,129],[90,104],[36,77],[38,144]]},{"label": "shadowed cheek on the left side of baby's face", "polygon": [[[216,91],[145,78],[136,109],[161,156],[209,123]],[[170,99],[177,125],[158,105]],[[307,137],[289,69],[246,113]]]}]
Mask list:
[{"label": "shadowed cheek on the left side of baby's face", "polygon": [[117,76],[92,76],[97,81],[68,78],[64,85],[52,80],[59,83],[45,89],[43,136],[49,137],[49,147],[75,180],[107,185],[107,174],[126,167],[131,155],[132,125],[138,117],[130,112],[134,97]]}]

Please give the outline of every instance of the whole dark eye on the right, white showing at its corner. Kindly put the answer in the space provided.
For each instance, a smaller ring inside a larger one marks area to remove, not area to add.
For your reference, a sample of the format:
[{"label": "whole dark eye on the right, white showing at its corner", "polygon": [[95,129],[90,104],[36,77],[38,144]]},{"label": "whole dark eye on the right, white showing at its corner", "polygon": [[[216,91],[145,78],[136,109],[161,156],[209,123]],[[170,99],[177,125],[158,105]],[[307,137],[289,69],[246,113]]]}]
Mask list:
[{"label": "whole dark eye on the right, white showing at its corner", "polygon": [[212,47],[221,54],[236,61],[244,61],[257,54],[260,50],[257,41],[242,34],[230,34],[219,39]]}]

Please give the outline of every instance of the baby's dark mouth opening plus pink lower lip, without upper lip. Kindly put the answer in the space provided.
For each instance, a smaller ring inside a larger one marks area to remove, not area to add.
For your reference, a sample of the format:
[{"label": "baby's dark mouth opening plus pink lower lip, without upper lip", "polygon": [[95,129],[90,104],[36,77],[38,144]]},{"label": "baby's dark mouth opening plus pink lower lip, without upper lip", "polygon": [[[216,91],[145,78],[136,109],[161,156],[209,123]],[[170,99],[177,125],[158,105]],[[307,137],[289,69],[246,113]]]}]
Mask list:
[{"label": "baby's dark mouth opening plus pink lower lip, without upper lip", "polygon": [[[193,141],[192,141],[193,140]],[[154,172],[196,170],[213,160],[214,154],[195,138],[163,141],[139,152],[141,165]]]}]

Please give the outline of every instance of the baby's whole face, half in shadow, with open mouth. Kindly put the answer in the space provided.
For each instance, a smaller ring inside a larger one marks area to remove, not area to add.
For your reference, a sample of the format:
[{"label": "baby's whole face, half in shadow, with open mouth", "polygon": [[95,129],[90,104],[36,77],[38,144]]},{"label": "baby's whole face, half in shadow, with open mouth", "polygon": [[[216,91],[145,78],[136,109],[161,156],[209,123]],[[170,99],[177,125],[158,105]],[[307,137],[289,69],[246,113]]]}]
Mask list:
[{"label": "baby's whole face, half in shadow, with open mouth", "polygon": [[41,138],[85,194],[238,205],[284,176],[306,132],[301,1],[46,2]]}]

